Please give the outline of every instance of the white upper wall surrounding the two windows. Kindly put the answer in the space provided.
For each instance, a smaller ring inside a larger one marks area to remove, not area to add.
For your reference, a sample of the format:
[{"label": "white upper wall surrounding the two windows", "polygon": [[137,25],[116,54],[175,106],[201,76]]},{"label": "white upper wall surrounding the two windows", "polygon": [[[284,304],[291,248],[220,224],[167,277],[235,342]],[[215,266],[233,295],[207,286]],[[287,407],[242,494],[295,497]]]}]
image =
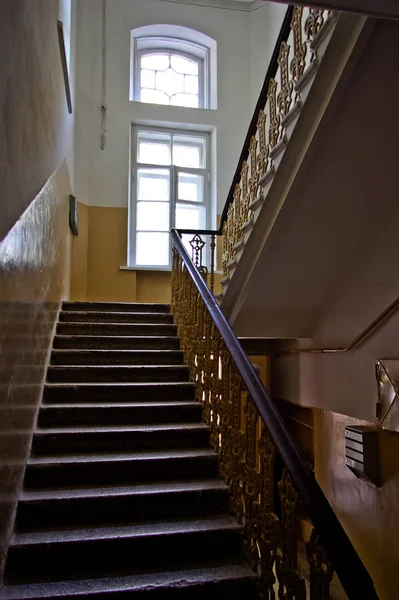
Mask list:
[{"label": "white upper wall surrounding the two windows", "polygon": [[[216,132],[216,196],[217,212],[221,212],[285,10],[268,4],[250,13],[160,0],[108,0],[106,146],[101,150],[102,1],[79,2],[75,134],[79,201],[93,206],[127,206],[130,123],[177,121]],[[159,23],[190,27],[217,41],[217,110],[129,101],[130,32]],[[260,56],[264,57],[261,61]]]}]

